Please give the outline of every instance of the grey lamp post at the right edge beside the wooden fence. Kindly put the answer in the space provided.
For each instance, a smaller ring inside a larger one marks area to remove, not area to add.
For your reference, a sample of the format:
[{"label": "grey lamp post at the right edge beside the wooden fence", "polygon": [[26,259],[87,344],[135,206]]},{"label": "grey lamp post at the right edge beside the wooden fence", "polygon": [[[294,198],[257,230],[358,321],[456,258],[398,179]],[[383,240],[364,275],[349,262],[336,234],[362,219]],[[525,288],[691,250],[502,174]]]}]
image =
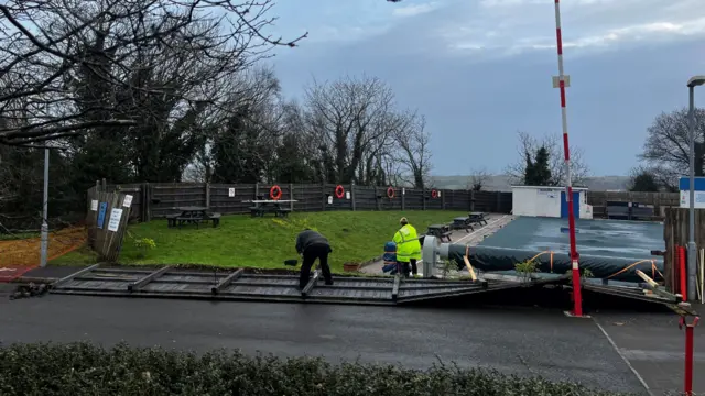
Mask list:
[{"label": "grey lamp post at the right edge beside the wooden fence", "polygon": [[[688,183],[690,195],[690,219],[687,239],[687,296],[683,296],[688,301],[695,300],[695,282],[697,277],[696,250],[695,250],[695,87],[705,84],[705,76],[694,76],[687,80],[688,88],[688,140],[691,177]],[[702,169],[701,169],[702,170]]]}]

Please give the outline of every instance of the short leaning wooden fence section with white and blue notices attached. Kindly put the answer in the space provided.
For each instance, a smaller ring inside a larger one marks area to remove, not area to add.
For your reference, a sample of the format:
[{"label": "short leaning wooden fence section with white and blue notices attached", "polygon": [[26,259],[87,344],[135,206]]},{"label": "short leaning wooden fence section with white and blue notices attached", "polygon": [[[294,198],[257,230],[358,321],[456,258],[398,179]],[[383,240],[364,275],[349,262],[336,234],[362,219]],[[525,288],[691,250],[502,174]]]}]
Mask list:
[{"label": "short leaning wooden fence section with white and blue notices attached", "polygon": [[99,186],[88,190],[88,244],[98,253],[100,261],[118,260],[128,229],[132,201],[134,197],[122,191],[108,193]]}]

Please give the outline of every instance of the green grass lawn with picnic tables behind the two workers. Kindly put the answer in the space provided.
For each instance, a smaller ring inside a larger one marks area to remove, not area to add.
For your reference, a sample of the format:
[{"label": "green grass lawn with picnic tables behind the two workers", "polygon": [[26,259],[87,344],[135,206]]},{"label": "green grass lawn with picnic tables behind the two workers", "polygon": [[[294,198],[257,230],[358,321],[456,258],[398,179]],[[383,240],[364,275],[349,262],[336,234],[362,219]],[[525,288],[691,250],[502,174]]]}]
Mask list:
[{"label": "green grass lawn with picnic tables behind the two workers", "polygon": [[[343,263],[365,262],[381,255],[384,243],[399,229],[405,216],[422,233],[434,223],[449,222],[459,211],[334,211],[292,213],[289,219],[226,216],[218,228],[193,226],[166,228],[166,220],[155,220],[129,228],[120,254],[123,264],[207,264],[221,267],[282,268],[283,261],[297,258],[296,234],[304,228],[317,230],[333,246],[330,266],[343,271]],[[134,239],[151,238],[156,248],[140,258]],[[89,264],[96,255],[79,249],[52,261],[52,264]]]}]

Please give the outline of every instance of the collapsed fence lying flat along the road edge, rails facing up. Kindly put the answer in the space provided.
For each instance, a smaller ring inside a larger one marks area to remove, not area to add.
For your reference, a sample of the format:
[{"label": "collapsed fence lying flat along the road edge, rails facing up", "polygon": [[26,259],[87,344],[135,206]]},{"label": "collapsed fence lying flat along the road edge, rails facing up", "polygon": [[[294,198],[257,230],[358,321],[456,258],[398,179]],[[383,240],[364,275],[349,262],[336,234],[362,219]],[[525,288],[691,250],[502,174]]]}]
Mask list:
[{"label": "collapsed fence lying flat along the road edge, rails facing up", "polygon": [[303,289],[296,275],[186,271],[171,266],[159,270],[106,267],[96,264],[56,280],[51,293],[65,295],[167,297],[213,300],[259,300],[292,302],[334,302],[358,305],[400,305],[458,297],[494,290],[539,286],[564,279],[529,283],[505,280],[403,279],[397,277],[334,277],[325,285],[318,273]]}]

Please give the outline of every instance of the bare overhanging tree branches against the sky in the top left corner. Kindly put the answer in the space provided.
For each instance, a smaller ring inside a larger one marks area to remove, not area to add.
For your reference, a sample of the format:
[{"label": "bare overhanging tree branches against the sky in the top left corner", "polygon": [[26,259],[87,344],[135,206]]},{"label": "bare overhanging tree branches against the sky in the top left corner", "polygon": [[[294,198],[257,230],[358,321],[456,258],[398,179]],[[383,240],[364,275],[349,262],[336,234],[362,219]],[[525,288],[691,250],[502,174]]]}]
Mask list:
[{"label": "bare overhanging tree branches against the sky in the top left corner", "polygon": [[[126,108],[140,101],[120,92],[174,95],[164,86],[135,82],[155,59],[180,67],[184,57],[193,62],[198,54],[198,62],[217,64],[223,74],[267,56],[273,45],[294,46],[305,35],[284,42],[263,33],[272,21],[267,16],[271,7],[271,0],[0,4],[0,143],[26,145],[98,127],[135,125]],[[171,59],[149,55],[160,51]],[[189,91],[181,99],[197,102],[204,97]]]}]

